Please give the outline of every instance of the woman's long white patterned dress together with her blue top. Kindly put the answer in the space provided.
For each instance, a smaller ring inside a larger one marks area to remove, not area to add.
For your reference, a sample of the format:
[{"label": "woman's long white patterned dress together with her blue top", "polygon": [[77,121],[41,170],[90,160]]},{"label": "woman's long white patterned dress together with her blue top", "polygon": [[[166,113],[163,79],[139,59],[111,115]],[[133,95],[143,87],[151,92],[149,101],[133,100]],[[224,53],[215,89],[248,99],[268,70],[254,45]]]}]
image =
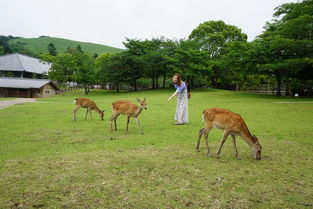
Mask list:
[{"label": "woman's long white patterned dress together with her blue top", "polygon": [[177,94],[177,105],[174,119],[178,123],[188,123],[188,94],[186,84],[174,85]]}]

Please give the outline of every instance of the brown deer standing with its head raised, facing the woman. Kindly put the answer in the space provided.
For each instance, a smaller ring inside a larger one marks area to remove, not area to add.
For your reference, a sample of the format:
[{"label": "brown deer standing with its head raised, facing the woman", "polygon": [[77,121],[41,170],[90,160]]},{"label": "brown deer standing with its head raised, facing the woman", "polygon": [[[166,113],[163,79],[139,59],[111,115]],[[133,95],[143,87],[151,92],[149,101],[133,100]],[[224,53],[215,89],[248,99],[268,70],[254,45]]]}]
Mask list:
[{"label": "brown deer standing with its head raised, facing the woman", "polygon": [[120,114],[126,115],[127,116],[127,126],[126,126],[126,131],[128,131],[128,124],[129,124],[129,119],[130,117],[133,117],[137,120],[137,123],[140,127],[141,133],[143,134],[143,130],[140,126],[140,121],[138,119],[138,116],[140,115],[141,111],[143,109],[147,109],[146,105],[146,98],[144,100],[140,100],[136,98],[140,106],[138,107],[137,105],[131,103],[128,100],[117,100],[112,103],[112,116],[111,116],[111,131],[113,129],[113,121],[115,125],[115,130],[117,130],[116,126],[116,119]]}]

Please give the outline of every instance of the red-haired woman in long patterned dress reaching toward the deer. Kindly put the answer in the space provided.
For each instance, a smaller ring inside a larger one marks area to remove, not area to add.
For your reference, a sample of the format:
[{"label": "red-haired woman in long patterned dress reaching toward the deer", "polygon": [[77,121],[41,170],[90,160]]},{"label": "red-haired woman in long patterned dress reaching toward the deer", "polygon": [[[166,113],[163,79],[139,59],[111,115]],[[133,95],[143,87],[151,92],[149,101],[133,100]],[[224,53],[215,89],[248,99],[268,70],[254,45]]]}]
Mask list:
[{"label": "red-haired woman in long patterned dress reaching toward the deer", "polygon": [[188,96],[185,82],[181,80],[179,73],[173,76],[173,83],[176,91],[168,98],[170,101],[174,96],[177,96],[177,105],[175,113],[175,125],[183,125],[188,123]]}]

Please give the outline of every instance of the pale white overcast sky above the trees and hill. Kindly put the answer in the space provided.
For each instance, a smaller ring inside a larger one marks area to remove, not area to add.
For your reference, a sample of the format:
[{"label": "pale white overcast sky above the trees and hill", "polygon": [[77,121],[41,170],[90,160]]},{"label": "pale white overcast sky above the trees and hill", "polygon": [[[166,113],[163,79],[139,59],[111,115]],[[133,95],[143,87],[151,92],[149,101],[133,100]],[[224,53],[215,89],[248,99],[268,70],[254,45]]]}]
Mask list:
[{"label": "pale white overcast sky above the trees and hill", "polygon": [[0,35],[68,38],[123,48],[127,38],[186,38],[223,20],[251,41],[274,8],[296,0],[0,0]]}]

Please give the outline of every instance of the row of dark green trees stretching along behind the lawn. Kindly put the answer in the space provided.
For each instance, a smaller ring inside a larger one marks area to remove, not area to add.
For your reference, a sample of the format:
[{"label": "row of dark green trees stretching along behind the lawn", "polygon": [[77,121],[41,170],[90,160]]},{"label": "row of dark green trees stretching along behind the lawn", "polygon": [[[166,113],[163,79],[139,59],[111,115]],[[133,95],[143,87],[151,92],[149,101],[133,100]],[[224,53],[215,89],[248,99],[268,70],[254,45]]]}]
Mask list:
[{"label": "row of dark green trees stretching along behind the lawn", "polygon": [[126,39],[126,50],[119,53],[90,57],[76,47],[41,57],[53,63],[51,79],[75,81],[86,93],[92,84],[111,84],[117,91],[125,85],[164,88],[180,72],[192,87],[312,95],[312,22],[313,0],[303,0],[277,7],[273,20],[251,42],[236,26],[207,21],[181,40]]}]

